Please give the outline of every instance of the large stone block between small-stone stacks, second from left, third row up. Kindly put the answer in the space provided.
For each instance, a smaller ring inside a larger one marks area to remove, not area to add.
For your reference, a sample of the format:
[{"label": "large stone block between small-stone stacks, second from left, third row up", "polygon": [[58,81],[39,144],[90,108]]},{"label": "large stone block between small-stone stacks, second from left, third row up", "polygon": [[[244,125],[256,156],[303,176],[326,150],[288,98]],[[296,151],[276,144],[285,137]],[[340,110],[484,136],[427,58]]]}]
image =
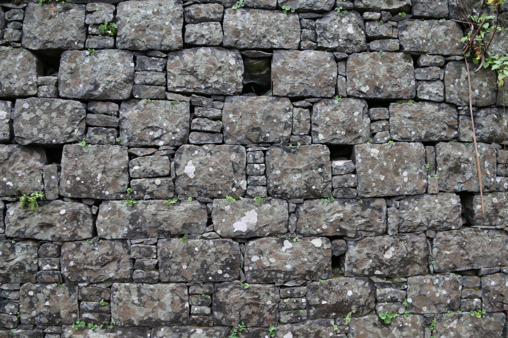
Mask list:
[{"label": "large stone block between small-stone stacks, second from left, third row up", "polygon": [[132,259],[125,240],[65,242],[60,257],[62,274],[70,282],[131,280]]}]

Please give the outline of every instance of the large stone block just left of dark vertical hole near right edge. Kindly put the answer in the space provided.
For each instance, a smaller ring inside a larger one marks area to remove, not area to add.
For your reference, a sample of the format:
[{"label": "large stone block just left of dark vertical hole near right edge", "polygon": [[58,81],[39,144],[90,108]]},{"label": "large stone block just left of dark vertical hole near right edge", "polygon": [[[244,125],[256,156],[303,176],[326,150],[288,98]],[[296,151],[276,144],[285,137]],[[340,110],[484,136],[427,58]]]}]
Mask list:
[{"label": "large stone block just left of dark vertical hole near right edge", "polygon": [[461,209],[460,197],[454,193],[406,197],[400,200],[399,232],[460,229]]}]

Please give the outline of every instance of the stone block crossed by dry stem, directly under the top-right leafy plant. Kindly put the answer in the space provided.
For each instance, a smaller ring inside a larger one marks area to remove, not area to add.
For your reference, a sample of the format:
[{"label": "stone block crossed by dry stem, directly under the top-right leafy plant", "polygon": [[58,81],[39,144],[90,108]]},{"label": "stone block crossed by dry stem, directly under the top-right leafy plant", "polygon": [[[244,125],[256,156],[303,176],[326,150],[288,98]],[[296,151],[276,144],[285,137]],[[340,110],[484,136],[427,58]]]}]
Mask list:
[{"label": "stone block crossed by dry stem, directly under the top-right leafy plant", "polygon": [[[483,67],[475,72],[476,68],[469,63],[472,105],[482,107],[494,104],[496,92],[492,88],[496,86],[495,74]],[[465,62],[451,61],[444,67],[444,96],[446,102],[459,106],[469,105],[469,82]]]}]

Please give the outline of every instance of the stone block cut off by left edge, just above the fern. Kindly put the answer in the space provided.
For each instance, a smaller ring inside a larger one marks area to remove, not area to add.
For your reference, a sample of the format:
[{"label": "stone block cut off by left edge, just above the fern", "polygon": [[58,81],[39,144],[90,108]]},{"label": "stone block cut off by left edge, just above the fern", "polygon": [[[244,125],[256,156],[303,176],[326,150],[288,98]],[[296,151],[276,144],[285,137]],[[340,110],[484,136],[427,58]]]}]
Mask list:
[{"label": "stone block cut off by left edge, just above the fern", "polygon": [[39,146],[0,144],[0,196],[30,194],[44,189],[42,168],[46,164],[46,152]]}]

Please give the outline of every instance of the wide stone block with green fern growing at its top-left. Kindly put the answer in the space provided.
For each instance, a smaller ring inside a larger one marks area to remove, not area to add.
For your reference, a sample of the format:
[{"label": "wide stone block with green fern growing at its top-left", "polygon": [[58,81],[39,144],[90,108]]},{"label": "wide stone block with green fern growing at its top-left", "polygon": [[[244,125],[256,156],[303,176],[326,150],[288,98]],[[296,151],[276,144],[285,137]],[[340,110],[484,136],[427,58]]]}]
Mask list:
[{"label": "wide stone block with green fern growing at its top-left", "polygon": [[5,233],[9,237],[46,241],[76,241],[92,237],[93,217],[86,204],[50,201],[38,202],[39,210],[30,212],[25,203],[9,203]]}]

